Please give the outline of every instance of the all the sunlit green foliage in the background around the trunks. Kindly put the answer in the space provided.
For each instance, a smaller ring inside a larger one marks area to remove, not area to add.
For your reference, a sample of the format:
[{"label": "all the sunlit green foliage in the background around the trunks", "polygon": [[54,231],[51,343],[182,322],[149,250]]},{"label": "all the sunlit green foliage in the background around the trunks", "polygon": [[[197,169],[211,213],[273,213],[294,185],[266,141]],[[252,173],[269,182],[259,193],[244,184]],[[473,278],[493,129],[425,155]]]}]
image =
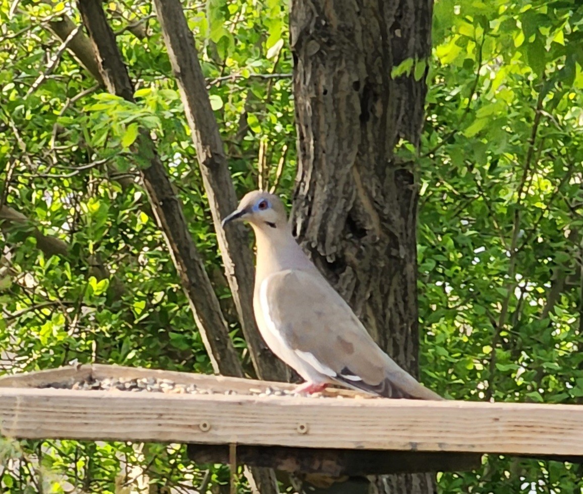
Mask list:
[{"label": "all the sunlit green foliage in the background around the trunks", "polygon": [[[211,372],[129,151],[139,126],[248,361],[152,2],[104,3],[135,104],[104,93],[52,34],[63,15],[79,26],[74,3],[0,5],[0,375],[71,361]],[[287,6],[184,6],[238,193],[261,183],[289,197]],[[435,3],[419,152],[420,362],[445,396],[581,403],[582,26],[576,0]],[[439,474],[438,488],[581,493],[582,476],[579,465],[486,456],[480,470]],[[193,465],[177,445],[0,442],[2,492],[227,483],[225,468]]]}]

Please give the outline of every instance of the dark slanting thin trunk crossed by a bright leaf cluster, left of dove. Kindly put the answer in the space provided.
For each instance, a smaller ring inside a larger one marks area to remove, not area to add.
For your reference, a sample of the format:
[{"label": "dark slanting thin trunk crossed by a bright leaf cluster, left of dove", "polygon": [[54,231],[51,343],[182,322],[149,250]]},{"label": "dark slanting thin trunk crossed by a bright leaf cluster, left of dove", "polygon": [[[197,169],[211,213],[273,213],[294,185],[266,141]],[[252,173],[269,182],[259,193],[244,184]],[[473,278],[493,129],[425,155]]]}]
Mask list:
[{"label": "dark slanting thin trunk crossed by a bright leaf cluster, left of dove", "polygon": [[[125,100],[134,101],[132,83],[100,0],[79,0],[78,5],[107,90]],[[138,160],[145,164],[141,173],[150,205],[166,238],[213,368],[224,375],[242,376],[243,370],[230,340],[229,328],[202,258],[188,232],[180,200],[147,132],[142,130],[134,149]]]}]

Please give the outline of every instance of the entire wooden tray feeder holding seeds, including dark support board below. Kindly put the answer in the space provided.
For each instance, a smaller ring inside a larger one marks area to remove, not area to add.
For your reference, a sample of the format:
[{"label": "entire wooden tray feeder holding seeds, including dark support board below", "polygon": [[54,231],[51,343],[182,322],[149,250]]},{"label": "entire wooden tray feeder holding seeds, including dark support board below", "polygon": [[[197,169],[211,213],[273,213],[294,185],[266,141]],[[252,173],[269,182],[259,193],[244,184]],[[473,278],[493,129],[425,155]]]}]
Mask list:
[{"label": "entire wooden tray feeder holding seeds, including dark support board below", "polygon": [[[0,434],[15,439],[192,443],[201,463],[366,475],[462,471],[482,453],[577,460],[583,407],[388,400],[339,389],[78,365],[0,378]],[[568,457],[568,458],[565,458]]]}]

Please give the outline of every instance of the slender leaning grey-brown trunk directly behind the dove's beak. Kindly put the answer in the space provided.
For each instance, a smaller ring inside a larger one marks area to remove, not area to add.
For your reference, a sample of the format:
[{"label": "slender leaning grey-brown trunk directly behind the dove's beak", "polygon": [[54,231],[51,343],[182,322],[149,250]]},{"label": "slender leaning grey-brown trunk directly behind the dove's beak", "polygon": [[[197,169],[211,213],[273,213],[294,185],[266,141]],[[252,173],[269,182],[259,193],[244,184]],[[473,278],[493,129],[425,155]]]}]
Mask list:
[{"label": "slender leaning grey-brown trunk directly behind the dove's beak", "polygon": [[168,56],[178,81],[182,104],[192,131],[206,196],[215,224],[225,271],[245,340],[257,375],[285,380],[281,362],[266,347],[252,312],[254,270],[242,227],[224,230],[220,223],[236,208],[237,196],[227,166],[215,115],[210,107],[198,52],[178,0],[155,0]]}]

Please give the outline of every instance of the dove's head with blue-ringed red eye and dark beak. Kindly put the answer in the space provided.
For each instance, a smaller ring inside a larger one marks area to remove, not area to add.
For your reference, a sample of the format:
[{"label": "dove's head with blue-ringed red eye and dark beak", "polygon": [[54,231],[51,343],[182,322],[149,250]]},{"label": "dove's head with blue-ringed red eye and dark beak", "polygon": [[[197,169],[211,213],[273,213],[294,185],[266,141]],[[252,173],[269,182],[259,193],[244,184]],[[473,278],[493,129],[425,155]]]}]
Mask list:
[{"label": "dove's head with blue-ringed red eye and dark beak", "polygon": [[241,199],[239,206],[233,213],[223,220],[223,227],[231,221],[243,220],[251,226],[264,230],[267,228],[284,228],[287,225],[287,216],[282,200],[278,196],[254,190]]}]

